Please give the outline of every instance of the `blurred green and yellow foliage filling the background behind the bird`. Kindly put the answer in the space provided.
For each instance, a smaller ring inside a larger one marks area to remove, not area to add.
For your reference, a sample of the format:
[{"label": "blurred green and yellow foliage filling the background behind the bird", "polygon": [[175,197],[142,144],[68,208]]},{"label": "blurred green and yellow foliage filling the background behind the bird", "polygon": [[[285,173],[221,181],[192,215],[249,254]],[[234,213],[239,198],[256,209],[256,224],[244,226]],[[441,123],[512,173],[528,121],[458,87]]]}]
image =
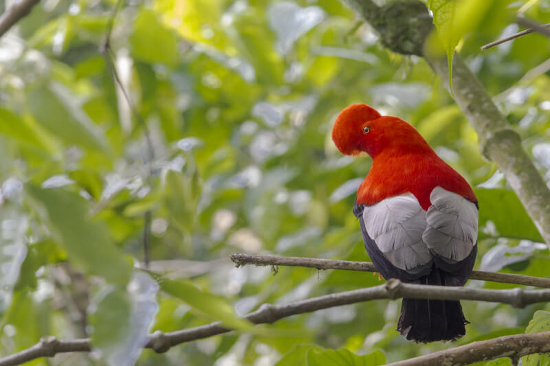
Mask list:
[{"label": "blurred green and yellow foliage filling the background behind the bird", "polygon": [[[530,34],[479,50],[518,31],[520,8],[550,23],[550,1],[525,4],[490,2],[459,47],[550,181],[549,39]],[[165,354],[139,350],[153,330],[212,319],[247,329],[235,315],[264,302],[379,284],[369,273],[279,268],[273,276],[228,260],[237,251],[368,260],[351,208],[371,161],[342,157],[329,135],[355,102],[417,126],[477,186],[476,268],[549,275],[548,249],[441,81],[421,58],[381,47],[342,3],[125,4],[114,65],[148,126],[153,159],[99,52],[114,6],[44,1],[0,38],[1,355],[46,334],[92,336],[102,352],[30,365],[376,365],[450,347],[404,340],[395,332],[399,301],[370,301]],[[152,277],[135,269],[146,211]],[[549,310],[463,307],[471,323],[459,344],[524,332],[536,311]],[[537,314],[533,322],[547,313]]]}]

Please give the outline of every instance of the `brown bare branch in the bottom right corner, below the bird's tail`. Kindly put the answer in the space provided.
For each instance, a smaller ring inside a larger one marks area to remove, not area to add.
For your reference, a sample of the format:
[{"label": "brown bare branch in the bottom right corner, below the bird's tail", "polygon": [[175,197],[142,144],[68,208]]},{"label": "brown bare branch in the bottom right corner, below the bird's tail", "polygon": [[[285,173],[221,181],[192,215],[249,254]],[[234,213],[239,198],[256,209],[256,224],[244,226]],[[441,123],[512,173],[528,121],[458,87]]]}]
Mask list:
[{"label": "brown bare branch in the bottom right corner, below the bird's tail", "polygon": [[550,352],[550,332],[500,336],[488,341],[472,342],[450,350],[390,363],[387,366],[461,366],[501,357],[517,360],[527,354],[544,352]]}]

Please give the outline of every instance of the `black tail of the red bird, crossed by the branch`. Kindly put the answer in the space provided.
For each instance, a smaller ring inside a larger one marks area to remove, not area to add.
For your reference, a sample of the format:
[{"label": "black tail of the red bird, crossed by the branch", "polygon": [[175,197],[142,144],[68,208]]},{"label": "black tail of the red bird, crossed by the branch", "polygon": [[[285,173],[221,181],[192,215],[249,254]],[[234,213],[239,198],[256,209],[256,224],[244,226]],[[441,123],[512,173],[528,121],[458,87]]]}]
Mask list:
[{"label": "black tail of the red bird, crossed by the branch", "polygon": [[[445,285],[445,273],[434,268],[417,283]],[[466,334],[467,323],[459,301],[403,299],[397,330],[420,343],[454,341]]]}]

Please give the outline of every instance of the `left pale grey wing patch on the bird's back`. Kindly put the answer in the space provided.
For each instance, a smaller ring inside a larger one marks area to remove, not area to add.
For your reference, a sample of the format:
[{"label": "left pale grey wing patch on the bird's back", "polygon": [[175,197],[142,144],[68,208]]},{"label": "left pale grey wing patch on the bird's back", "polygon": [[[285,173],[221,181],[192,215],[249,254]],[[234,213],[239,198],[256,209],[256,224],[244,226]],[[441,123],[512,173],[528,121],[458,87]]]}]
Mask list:
[{"label": "left pale grey wing patch on the bird's back", "polygon": [[426,211],[410,194],[386,198],[363,211],[366,232],[391,264],[414,272],[432,260],[423,241]]}]

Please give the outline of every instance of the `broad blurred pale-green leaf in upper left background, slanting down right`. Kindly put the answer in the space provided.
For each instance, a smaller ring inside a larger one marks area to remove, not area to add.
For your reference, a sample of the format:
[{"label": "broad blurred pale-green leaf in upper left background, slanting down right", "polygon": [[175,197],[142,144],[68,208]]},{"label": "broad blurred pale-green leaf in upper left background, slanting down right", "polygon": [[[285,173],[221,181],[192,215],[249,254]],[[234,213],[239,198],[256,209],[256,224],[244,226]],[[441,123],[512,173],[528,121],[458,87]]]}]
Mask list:
[{"label": "broad blurred pale-green leaf in upper left background, slanting down right", "polygon": [[78,106],[71,92],[61,84],[32,89],[28,105],[34,118],[66,145],[107,150],[102,131]]}]

